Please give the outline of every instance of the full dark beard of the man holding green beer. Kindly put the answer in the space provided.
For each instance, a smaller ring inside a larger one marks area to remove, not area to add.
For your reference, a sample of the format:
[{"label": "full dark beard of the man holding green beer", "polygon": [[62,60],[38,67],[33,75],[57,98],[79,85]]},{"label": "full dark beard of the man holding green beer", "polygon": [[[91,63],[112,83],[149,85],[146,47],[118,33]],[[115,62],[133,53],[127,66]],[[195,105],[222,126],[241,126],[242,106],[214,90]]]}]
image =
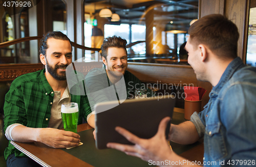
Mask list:
[{"label": "full dark beard of the man holding green beer", "polygon": [[52,67],[48,64],[46,59],[46,67],[48,72],[52,75],[52,77],[56,80],[67,80],[66,72],[60,72],[58,74],[57,69],[58,68],[67,68],[68,65],[56,65],[55,67]]}]

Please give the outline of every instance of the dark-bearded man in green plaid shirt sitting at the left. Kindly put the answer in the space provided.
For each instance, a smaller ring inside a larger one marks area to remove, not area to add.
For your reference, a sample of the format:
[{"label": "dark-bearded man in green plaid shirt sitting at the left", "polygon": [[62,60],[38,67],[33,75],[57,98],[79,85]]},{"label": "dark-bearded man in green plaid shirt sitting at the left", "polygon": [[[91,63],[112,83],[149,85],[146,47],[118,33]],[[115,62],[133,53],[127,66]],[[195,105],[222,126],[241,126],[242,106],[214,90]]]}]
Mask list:
[{"label": "dark-bearded man in green plaid shirt sitting at the left", "polygon": [[[41,142],[53,148],[77,146],[77,133],[59,130],[63,128],[61,104],[78,103],[78,124],[91,113],[87,96],[69,93],[66,67],[72,62],[70,39],[61,32],[47,33],[40,40],[39,52],[46,68],[17,77],[6,94],[5,135],[9,141]],[[5,159],[7,166],[40,166],[10,143]]]}]

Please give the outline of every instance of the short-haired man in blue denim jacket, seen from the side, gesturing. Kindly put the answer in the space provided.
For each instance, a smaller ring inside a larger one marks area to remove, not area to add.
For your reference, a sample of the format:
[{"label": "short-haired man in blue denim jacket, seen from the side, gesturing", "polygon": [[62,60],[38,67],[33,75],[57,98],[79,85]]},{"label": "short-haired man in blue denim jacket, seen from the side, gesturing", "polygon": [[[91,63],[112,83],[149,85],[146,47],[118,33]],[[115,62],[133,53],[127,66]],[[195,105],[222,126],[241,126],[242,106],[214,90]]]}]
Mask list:
[{"label": "short-haired man in blue denim jacket, seen from the side, gesturing", "polygon": [[[204,166],[255,166],[256,68],[244,65],[237,56],[237,26],[224,16],[213,14],[192,24],[188,33],[188,63],[197,79],[210,82],[213,88],[204,110],[200,114],[195,112],[191,121],[172,124],[168,140],[191,144],[204,137]],[[157,134],[148,140],[117,127],[135,145],[109,143],[108,147],[148,162],[186,162],[170,151],[165,140],[168,121],[169,118],[164,118]]]}]

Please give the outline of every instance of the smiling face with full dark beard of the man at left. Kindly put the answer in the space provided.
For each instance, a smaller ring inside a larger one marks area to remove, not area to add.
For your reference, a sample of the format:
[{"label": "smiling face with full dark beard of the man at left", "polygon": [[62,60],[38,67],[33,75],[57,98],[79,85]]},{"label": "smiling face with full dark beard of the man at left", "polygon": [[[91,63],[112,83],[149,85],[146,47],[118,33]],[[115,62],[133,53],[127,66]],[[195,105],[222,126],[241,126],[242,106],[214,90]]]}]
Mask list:
[{"label": "smiling face with full dark beard of the man at left", "polygon": [[47,40],[46,55],[41,55],[41,62],[46,65],[46,72],[56,80],[66,80],[66,68],[72,62],[72,48],[67,40],[50,38]]}]

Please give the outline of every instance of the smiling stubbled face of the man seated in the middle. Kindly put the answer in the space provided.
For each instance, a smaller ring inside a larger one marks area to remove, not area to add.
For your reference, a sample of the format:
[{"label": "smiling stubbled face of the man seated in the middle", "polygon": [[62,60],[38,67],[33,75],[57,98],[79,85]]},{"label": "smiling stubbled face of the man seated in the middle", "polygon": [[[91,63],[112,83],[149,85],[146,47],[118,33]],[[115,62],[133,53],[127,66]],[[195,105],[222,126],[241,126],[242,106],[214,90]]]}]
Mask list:
[{"label": "smiling stubbled face of the man seated in the middle", "polygon": [[124,48],[109,47],[106,59],[102,57],[102,61],[106,66],[106,71],[117,71],[122,74],[127,69],[127,53]]}]

